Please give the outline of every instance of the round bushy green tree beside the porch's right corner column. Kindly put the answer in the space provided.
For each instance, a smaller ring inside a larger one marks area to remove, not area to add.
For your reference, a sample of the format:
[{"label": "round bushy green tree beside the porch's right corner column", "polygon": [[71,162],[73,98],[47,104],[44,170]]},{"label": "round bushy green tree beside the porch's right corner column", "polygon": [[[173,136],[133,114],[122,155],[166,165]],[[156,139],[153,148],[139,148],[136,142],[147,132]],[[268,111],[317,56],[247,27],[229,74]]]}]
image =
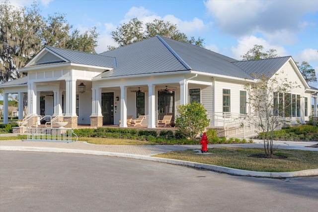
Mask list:
[{"label": "round bushy green tree beside the porch's right corner column", "polygon": [[201,103],[193,102],[187,105],[179,105],[175,126],[180,129],[182,134],[195,141],[196,136],[202,133],[209,126],[210,119],[207,110]]}]

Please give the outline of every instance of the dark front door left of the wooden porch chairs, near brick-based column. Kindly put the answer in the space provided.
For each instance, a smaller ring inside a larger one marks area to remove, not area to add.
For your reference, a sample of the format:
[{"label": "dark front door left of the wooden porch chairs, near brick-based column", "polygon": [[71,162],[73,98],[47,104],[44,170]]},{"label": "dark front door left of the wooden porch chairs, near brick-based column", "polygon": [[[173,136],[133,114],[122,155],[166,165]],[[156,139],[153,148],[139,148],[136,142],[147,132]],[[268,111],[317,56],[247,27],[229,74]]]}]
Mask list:
[{"label": "dark front door left of the wooden porch chairs, near brick-based column", "polygon": [[101,94],[101,112],[103,125],[114,124],[114,93]]}]

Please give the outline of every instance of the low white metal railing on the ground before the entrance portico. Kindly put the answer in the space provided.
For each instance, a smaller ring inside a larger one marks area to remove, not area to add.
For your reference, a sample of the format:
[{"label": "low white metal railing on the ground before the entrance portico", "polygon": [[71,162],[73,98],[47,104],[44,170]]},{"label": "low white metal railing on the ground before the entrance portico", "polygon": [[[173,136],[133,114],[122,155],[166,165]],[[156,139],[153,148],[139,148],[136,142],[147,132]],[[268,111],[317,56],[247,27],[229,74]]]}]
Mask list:
[{"label": "low white metal railing on the ground before the entrance portico", "polygon": [[26,128],[26,141],[78,141],[72,128]]}]

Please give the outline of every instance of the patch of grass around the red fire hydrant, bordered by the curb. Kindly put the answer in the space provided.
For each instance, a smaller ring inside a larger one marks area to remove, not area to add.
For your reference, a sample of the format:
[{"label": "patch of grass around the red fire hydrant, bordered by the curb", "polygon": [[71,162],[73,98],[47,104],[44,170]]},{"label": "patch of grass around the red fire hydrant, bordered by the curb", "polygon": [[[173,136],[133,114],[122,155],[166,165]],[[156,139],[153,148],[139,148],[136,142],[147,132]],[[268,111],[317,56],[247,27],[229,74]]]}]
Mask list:
[{"label": "patch of grass around the red fire hydrant, bordered by the curb", "polygon": [[209,152],[212,154],[195,154],[192,150],[184,150],[155,156],[250,171],[289,172],[318,168],[317,151],[276,149],[274,154],[287,156],[284,159],[249,157],[251,154],[264,153],[263,148],[214,147],[209,148]]}]

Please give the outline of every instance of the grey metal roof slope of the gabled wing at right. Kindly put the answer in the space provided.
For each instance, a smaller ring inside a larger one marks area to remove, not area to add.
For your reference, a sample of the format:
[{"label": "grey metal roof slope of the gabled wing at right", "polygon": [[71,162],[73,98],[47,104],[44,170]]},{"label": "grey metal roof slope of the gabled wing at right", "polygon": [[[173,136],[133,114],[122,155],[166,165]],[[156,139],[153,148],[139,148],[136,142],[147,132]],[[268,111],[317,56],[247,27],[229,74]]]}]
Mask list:
[{"label": "grey metal roof slope of the gabled wing at right", "polygon": [[237,61],[232,62],[232,64],[236,65],[246,73],[253,75],[254,78],[258,78],[260,75],[264,75],[265,77],[271,77],[289,59],[291,59],[290,56],[262,60]]}]

